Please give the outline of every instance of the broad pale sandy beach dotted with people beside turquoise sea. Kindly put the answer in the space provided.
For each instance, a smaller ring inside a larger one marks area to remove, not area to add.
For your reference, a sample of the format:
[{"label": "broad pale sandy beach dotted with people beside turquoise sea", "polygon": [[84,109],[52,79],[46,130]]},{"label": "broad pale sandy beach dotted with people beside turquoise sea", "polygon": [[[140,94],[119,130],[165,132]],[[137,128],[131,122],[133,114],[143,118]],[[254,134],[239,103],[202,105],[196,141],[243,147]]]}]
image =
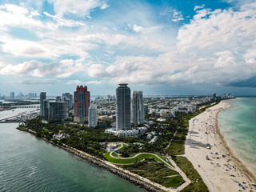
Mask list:
[{"label": "broad pale sandy beach dotted with people beside turquoise sea", "polygon": [[185,156],[211,192],[256,191],[251,185],[254,175],[234,155],[218,129],[218,113],[229,107],[230,102],[225,100],[190,119]]}]

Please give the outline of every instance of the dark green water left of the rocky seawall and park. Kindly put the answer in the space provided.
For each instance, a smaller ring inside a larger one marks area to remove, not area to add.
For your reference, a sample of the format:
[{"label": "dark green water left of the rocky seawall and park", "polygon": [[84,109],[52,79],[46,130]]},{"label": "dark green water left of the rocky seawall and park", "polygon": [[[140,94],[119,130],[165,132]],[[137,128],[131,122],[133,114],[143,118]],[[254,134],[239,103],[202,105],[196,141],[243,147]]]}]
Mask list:
[{"label": "dark green water left of the rocky seawall and park", "polygon": [[[24,111],[24,110],[23,110]],[[0,112],[0,119],[22,110]],[[0,191],[144,191],[110,172],[0,124]]]}]

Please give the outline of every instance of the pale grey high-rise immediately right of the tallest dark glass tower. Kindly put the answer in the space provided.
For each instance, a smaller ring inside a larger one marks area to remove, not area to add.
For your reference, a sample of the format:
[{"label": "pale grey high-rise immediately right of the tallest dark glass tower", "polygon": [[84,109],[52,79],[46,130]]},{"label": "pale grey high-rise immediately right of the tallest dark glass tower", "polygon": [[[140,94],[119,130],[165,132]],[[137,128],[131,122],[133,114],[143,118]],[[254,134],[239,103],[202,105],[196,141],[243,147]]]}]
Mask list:
[{"label": "pale grey high-rise immediately right of the tallest dark glass tower", "polygon": [[131,122],[138,126],[145,122],[142,90],[134,90],[131,103]]}]

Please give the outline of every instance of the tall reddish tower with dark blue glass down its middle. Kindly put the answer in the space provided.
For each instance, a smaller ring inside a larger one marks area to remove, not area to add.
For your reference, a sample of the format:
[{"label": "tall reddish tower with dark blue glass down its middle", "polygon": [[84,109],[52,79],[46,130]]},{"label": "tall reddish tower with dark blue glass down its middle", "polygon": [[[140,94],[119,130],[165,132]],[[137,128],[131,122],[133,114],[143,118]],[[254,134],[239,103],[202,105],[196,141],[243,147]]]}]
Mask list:
[{"label": "tall reddish tower with dark blue glass down its middle", "polygon": [[90,91],[87,86],[77,86],[74,91],[74,122],[88,122]]}]

